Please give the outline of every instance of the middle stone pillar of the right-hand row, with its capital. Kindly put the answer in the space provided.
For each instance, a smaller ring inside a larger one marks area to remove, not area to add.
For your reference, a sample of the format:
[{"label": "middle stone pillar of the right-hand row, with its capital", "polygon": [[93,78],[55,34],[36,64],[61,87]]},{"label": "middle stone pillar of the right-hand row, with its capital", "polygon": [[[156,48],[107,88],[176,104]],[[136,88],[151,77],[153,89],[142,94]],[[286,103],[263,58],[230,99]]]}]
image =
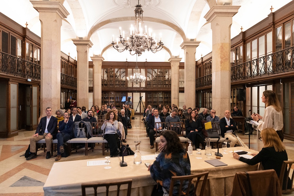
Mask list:
[{"label": "middle stone pillar of the right-hand row, with its capital", "polygon": [[185,102],[188,107],[194,108],[196,102],[195,80],[196,80],[196,64],[195,54],[196,48],[200,41],[184,41],[181,48],[184,49],[185,55]]}]

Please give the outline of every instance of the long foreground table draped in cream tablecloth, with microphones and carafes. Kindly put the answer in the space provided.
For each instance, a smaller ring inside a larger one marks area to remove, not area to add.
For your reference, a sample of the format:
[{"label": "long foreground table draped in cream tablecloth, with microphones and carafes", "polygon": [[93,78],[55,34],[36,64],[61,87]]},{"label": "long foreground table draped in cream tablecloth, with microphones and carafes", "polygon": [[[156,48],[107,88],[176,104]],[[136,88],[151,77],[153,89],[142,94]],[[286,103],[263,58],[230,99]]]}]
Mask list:
[{"label": "long foreground table draped in cream tablecloth, with microphones and carafes", "polygon": [[[243,147],[228,148],[227,151],[246,150],[248,152],[255,152],[254,150],[245,149]],[[216,151],[216,149],[213,149]],[[233,158],[232,154],[228,152],[220,161],[228,164],[227,166],[214,167],[205,160],[204,150],[201,151],[202,159],[196,159],[196,152],[189,155],[191,162],[191,174],[209,171],[208,183],[206,186],[206,195],[228,195],[232,190],[233,179],[236,172],[254,171],[257,165],[250,166],[239,160]],[[220,150],[220,152],[223,152]],[[215,158],[212,156],[211,158]],[[87,161],[106,160],[92,159],[92,160],[78,160],[54,163],[48,175],[46,183],[43,187],[44,195],[81,195],[81,183],[85,182],[107,182],[112,180],[133,179],[132,194],[131,195],[151,195],[153,186],[156,184],[152,179],[150,172],[147,171],[145,162],[153,163],[153,160],[143,160],[142,164],[133,164],[133,156],[124,157],[127,162],[127,167],[119,166],[119,158],[110,158],[111,169],[104,169],[106,165],[87,166]],[[200,190],[200,189],[198,189]],[[98,189],[98,192],[105,190]],[[87,194],[93,193],[87,190]]]}]

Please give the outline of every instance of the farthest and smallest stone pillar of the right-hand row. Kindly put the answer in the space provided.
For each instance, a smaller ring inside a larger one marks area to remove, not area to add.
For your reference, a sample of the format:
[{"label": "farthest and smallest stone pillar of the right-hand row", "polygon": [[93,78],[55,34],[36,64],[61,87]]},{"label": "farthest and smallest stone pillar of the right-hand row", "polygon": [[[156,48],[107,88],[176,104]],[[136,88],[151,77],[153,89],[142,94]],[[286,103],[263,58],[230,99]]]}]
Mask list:
[{"label": "farthest and smallest stone pillar of the right-hand row", "polygon": [[171,104],[179,105],[179,67],[182,58],[170,58],[171,63]]}]

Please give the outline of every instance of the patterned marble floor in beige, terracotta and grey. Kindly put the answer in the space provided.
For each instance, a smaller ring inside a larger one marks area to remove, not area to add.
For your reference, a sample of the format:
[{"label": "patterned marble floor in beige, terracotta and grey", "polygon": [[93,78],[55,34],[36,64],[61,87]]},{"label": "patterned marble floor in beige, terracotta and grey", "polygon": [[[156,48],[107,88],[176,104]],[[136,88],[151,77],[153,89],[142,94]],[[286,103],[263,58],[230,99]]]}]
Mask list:
[{"label": "patterned marble floor in beige, terracotta and grey", "polygon": [[[146,127],[141,121],[142,116],[137,117],[132,121],[132,129],[128,129],[126,138],[132,150],[135,150],[135,141],[141,141],[140,151],[142,155],[155,152],[150,149],[149,138],[146,137]],[[38,157],[26,161],[25,157],[20,157],[24,154],[29,145],[29,139],[34,134],[34,131],[20,131],[18,136],[4,139],[0,138],[0,195],[44,195],[43,185],[49,175],[52,165],[55,162],[55,155],[46,159],[44,151],[38,151]],[[238,134],[239,137],[249,144],[248,135]],[[294,158],[294,142],[284,140],[288,158]],[[100,144],[101,145],[101,144]],[[98,145],[98,147],[101,147]],[[258,145],[258,149],[256,148]],[[256,143],[256,134],[250,136],[250,148],[260,150],[263,147],[261,141]],[[220,150],[222,152],[222,150]],[[105,152],[105,156],[109,152]],[[61,161],[72,161],[82,159],[102,158],[102,151],[89,151],[85,156],[84,151],[72,151],[71,156],[61,158]]]}]

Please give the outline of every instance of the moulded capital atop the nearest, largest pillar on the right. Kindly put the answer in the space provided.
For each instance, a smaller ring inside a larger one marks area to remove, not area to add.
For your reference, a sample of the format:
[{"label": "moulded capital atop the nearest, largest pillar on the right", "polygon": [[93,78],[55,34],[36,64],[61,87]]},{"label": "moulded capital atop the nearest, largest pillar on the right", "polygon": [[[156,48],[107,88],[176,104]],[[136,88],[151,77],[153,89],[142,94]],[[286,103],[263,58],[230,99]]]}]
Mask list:
[{"label": "moulded capital atop the nearest, largest pillar on the right", "polygon": [[238,9],[241,6],[223,6],[223,5],[214,5],[211,9],[205,14],[204,18],[206,21],[211,22],[216,16],[231,16],[233,17],[238,13]]}]

